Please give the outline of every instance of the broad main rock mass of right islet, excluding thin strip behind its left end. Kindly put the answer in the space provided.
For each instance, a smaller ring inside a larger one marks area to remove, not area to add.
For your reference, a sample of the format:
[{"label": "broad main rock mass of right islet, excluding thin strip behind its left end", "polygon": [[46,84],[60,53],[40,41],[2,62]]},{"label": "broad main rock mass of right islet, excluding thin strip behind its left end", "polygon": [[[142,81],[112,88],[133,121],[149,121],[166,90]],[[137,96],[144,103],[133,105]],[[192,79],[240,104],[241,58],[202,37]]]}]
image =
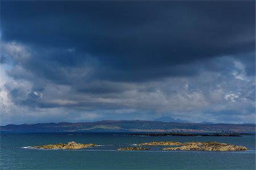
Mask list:
[{"label": "broad main rock mass of right islet, excluding thin strip behind its left end", "polygon": [[245,146],[229,145],[218,142],[185,142],[180,147],[165,147],[162,150],[195,150],[195,151],[246,151]]}]

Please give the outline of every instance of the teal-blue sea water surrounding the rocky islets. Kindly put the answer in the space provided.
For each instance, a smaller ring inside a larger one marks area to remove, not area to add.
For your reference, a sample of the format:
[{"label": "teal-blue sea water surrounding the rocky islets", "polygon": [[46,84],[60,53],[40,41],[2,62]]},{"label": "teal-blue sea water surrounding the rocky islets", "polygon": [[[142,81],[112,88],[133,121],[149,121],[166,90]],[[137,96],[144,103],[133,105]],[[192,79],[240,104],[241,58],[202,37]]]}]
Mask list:
[{"label": "teal-blue sea water surrounding the rocky islets", "polygon": [[[95,143],[83,150],[36,150],[26,146]],[[151,141],[217,141],[249,151],[118,151]],[[243,137],[141,137],[125,133],[1,134],[0,169],[255,169],[255,135]]]}]

